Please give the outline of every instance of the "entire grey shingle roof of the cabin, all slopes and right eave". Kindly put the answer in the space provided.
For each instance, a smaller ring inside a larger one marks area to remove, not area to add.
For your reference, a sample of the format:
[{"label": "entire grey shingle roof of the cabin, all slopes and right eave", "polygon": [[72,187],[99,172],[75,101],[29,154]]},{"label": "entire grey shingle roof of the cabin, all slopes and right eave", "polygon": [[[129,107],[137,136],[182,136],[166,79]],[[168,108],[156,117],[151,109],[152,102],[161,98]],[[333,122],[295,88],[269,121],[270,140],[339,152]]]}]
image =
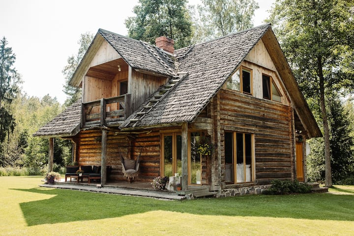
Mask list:
[{"label": "entire grey shingle roof of the cabin, all slopes and right eave", "polygon": [[[130,119],[137,118],[138,112],[148,104],[151,98],[149,97],[138,110],[119,126],[120,129],[139,129],[149,126],[192,122],[221,89],[225,81],[236,71],[257,42],[265,39],[269,41],[268,52],[269,50],[275,50],[274,55],[281,58],[275,59],[275,63],[278,63],[277,67],[281,77],[286,78],[285,86],[295,94],[293,101],[296,111],[299,116],[309,120],[308,126],[311,127],[310,132],[312,133],[310,137],[320,137],[322,135],[303,95],[298,89],[279,44],[274,45],[277,40],[270,24],[179,49],[175,51],[174,55],[165,53],[154,45],[104,29],[99,29],[96,37],[97,35],[102,36],[122,59],[135,70],[144,70],[170,78],[177,76],[178,73],[185,72],[186,75],[161,101],[133,125]],[[80,131],[80,116],[81,103],[78,101],[39,129],[34,135],[42,137],[75,135]]]}]

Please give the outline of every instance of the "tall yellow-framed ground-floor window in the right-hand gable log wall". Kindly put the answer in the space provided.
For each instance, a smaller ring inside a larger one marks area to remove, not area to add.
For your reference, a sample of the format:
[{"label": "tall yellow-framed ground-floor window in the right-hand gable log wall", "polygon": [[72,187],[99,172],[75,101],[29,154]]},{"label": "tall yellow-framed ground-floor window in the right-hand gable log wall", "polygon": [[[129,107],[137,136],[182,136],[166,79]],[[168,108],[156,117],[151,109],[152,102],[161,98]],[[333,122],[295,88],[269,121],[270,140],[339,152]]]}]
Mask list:
[{"label": "tall yellow-framed ground-floor window in the right-hand gable log wall", "polygon": [[225,181],[254,181],[253,134],[225,132]]}]

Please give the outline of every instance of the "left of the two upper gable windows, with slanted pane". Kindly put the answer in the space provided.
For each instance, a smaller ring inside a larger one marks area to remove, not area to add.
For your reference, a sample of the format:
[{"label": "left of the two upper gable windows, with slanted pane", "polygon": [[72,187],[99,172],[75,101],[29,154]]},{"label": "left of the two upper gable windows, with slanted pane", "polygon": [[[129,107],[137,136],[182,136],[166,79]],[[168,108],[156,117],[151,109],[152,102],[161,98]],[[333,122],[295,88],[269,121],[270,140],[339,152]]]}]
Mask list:
[{"label": "left of the two upper gable windows, with slanted pane", "polygon": [[252,94],[252,70],[241,66],[228,78],[226,86],[227,89]]}]

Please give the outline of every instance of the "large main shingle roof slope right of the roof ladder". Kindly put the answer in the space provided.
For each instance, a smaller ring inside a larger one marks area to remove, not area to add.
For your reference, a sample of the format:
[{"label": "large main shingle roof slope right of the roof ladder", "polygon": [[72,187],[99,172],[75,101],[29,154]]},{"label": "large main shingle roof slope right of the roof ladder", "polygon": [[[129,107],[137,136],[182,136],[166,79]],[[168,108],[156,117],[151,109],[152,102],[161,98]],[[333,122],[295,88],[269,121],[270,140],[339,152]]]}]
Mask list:
[{"label": "large main shingle roof slope right of the roof ladder", "polygon": [[[177,50],[178,70],[189,76],[136,127],[191,122],[269,28],[270,25],[263,25]],[[129,120],[120,127],[128,128]]]}]

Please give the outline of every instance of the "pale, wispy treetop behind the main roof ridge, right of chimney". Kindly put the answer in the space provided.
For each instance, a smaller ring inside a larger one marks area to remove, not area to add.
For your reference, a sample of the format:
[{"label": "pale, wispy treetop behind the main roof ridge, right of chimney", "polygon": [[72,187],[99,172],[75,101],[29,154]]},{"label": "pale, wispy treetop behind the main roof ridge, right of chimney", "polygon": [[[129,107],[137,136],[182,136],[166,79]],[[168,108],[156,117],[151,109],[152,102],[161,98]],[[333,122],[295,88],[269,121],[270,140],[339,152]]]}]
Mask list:
[{"label": "pale, wispy treetop behind the main roof ridge, right of chimney", "polygon": [[252,17],[258,8],[255,0],[202,0],[197,11],[191,8],[194,41],[203,42],[252,28]]}]

